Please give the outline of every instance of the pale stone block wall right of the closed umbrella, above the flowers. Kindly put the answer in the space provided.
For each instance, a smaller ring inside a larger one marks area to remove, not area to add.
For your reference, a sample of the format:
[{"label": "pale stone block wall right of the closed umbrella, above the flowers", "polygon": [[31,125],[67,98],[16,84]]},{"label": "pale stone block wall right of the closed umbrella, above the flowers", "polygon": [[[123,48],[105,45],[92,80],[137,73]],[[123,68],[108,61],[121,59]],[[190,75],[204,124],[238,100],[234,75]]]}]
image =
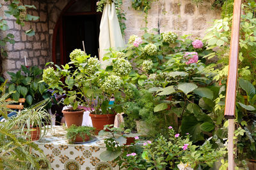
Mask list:
[{"label": "pale stone block wall right of the closed umbrella, above the flowers", "polygon": [[[126,13],[125,41],[129,36],[143,35],[141,27],[145,27],[144,13],[133,10],[131,0],[124,0],[123,10]],[[159,28],[160,32],[173,31],[179,36],[192,34],[191,38],[203,38],[212,20],[220,18],[220,11],[212,10],[211,3],[204,1],[196,6],[190,0],[153,1],[148,11],[148,29]],[[159,27],[158,27],[159,25]]]}]

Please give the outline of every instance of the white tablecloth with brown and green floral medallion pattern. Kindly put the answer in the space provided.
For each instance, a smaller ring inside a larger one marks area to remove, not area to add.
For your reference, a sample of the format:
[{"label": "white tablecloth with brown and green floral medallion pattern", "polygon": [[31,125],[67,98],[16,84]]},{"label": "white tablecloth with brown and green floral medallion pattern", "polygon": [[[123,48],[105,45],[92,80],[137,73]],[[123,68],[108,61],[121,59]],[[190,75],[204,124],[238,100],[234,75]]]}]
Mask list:
[{"label": "white tablecloth with brown and green floral medallion pattern", "polygon": [[51,169],[98,170],[108,169],[108,167],[113,170],[118,169],[115,163],[103,162],[99,158],[100,153],[106,150],[104,138],[96,136],[97,140],[92,143],[70,145],[66,133],[62,126],[54,126],[44,138],[35,141],[44,151]]}]

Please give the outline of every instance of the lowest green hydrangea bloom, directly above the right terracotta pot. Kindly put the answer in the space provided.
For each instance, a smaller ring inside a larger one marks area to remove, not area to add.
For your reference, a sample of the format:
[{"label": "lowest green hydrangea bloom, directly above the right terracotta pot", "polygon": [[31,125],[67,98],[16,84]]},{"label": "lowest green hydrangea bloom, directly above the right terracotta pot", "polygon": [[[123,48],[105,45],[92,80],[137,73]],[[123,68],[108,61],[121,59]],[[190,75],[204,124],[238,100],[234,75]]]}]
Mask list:
[{"label": "lowest green hydrangea bloom, directly above the right terracotta pot", "polygon": [[121,88],[121,85],[122,80],[120,76],[110,75],[102,84],[102,89],[104,92],[111,95],[118,91]]}]

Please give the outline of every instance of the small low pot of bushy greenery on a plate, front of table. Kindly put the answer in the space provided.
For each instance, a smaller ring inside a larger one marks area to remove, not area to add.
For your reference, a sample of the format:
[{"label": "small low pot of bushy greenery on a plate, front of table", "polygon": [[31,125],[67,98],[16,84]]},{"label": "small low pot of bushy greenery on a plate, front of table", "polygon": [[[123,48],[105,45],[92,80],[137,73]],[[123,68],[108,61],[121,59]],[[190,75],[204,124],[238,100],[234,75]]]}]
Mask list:
[{"label": "small low pot of bushy greenery on a plate, front of table", "polygon": [[94,134],[94,127],[71,125],[67,129],[67,139],[69,143],[84,143],[90,141]]}]

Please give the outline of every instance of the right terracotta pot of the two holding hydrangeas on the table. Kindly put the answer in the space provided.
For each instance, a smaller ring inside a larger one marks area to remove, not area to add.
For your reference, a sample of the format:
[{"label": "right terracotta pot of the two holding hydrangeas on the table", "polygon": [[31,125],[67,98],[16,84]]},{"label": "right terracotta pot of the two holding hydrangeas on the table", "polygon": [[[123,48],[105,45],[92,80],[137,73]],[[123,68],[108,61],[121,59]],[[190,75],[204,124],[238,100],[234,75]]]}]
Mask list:
[{"label": "right terracotta pot of the two holding hydrangeas on the table", "polygon": [[96,128],[95,134],[98,134],[99,131],[103,130],[104,125],[114,124],[115,116],[115,114],[95,115],[90,113],[90,117],[92,118],[92,125]]}]

